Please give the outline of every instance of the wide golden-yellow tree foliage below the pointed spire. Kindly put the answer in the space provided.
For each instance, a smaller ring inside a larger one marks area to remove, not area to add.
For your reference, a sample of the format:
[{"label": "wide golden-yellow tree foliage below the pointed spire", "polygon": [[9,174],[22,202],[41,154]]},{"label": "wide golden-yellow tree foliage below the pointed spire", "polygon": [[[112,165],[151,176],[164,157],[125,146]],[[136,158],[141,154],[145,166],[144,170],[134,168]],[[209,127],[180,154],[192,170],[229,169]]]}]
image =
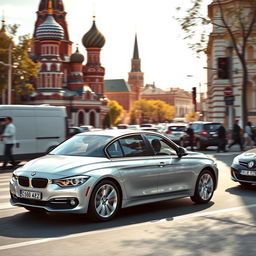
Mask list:
[{"label": "wide golden-yellow tree foliage below the pointed spire", "polygon": [[172,120],[174,114],[174,106],[171,106],[164,101],[141,99],[134,103],[130,113],[130,119],[132,120],[132,123],[162,123],[166,120]]}]

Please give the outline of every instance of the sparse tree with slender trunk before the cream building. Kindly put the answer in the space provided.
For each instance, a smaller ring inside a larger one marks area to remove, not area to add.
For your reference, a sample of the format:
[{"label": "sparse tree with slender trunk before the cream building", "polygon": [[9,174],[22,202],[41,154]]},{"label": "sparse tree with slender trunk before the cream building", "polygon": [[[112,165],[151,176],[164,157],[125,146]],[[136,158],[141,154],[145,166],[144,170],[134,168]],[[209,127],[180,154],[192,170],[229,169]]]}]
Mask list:
[{"label": "sparse tree with slender trunk before the cream building", "polygon": [[191,2],[192,7],[187,10],[185,17],[178,18],[178,20],[181,22],[181,27],[185,32],[185,38],[192,40],[190,41],[192,42],[190,43],[190,47],[193,50],[199,53],[206,49],[207,30],[204,30],[199,40],[193,41],[198,35],[199,25],[212,24],[217,28],[223,29],[226,39],[231,40],[233,43],[235,54],[242,67],[242,121],[243,125],[245,125],[248,121],[246,105],[248,84],[246,49],[249,40],[253,40],[255,36],[256,0],[213,0],[211,5],[216,5],[218,8],[219,18],[221,20],[219,23],[202,16],[202,0],[191,0]]}]

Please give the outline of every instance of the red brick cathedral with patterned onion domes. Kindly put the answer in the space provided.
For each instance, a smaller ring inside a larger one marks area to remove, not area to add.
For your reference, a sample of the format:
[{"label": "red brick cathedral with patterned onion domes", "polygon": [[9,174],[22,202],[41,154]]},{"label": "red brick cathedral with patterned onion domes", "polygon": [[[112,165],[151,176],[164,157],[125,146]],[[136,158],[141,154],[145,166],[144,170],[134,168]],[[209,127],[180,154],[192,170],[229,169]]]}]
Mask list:
[{"label": "red brick cathedral with patterned onion domes", "polygon": [[39,64],[35,93],[26,104],[66,106],[70,126],[103,127],[108,112],[104,96],[105,69],[100,52],[105,38],[93,19],[82,43],[87,61],[76,48],[72,52],[62,0],[41,0],[33,34],[31,58]]}]

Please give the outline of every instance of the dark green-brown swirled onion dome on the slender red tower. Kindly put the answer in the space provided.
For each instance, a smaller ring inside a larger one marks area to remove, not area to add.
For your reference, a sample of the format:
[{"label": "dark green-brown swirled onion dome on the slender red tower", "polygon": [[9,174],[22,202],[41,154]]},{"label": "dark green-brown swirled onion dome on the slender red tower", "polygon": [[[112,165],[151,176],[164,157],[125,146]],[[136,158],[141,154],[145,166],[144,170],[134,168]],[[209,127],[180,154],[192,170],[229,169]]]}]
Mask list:
[{"label": "dark green-brown swirled onion dome on the slender red tower", "polygon": [[102,48],[105,44],[105,37],[97,29],[95,20],[91,29],[83,36],[82,43],[86,48]]}]

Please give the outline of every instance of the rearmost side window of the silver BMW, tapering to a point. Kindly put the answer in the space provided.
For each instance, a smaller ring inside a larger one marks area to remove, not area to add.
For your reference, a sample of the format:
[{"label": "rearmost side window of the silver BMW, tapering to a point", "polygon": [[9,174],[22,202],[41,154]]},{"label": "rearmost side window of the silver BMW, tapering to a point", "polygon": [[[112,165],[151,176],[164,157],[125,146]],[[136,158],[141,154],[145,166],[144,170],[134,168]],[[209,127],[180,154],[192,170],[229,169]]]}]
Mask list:
[{"label": "rearmost side window of the silver BMW, tapering to a point", "polygon": [[176,155],[175,149],[168,144],[162,137],[157,135],[146,134],[155,155]]}]

